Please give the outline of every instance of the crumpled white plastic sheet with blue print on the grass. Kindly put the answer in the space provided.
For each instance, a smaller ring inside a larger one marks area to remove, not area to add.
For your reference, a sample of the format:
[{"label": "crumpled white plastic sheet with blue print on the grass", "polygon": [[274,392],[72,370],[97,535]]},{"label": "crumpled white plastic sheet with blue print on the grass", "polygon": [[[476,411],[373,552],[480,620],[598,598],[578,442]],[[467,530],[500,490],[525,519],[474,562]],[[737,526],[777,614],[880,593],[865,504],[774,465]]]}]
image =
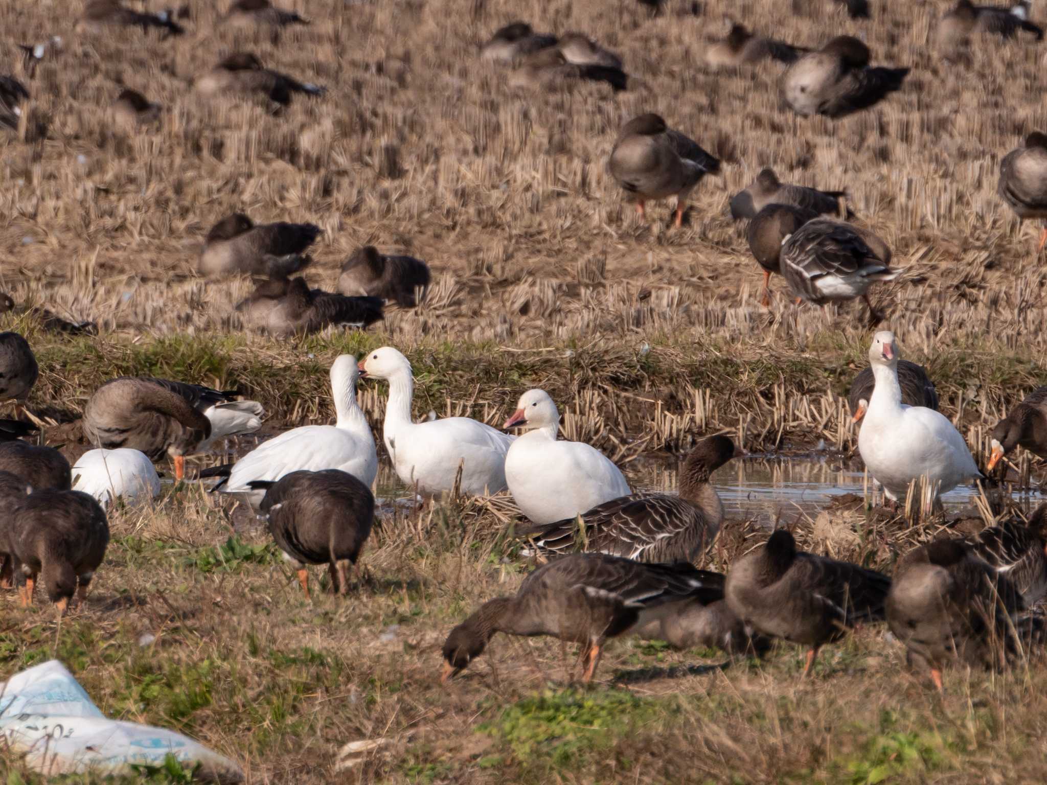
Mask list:
[{"label": "crumpled white plastic sheet with blue print on the grass", "polygon": [[107,719],[57,659],[0,682],[2,746],[48,777],[134,773],[135,766],[160,766],[172,755],[184,766],[199,764],[200,779],[243,781],[240,766],[187,736]]}]

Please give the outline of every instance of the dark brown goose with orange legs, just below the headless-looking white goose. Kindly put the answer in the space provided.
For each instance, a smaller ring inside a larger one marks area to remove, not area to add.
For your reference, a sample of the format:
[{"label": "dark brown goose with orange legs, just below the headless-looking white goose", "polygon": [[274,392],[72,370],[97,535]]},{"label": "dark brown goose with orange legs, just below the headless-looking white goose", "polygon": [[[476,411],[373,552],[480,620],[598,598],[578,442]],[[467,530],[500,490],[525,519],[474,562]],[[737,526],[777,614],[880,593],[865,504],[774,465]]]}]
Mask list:
[{"label": "dark brown goose with orange legs, just below the headless-looking white goose", "polygon": [[64,613],[73,592],[77,604],[87,599],[109,545],[109,522],[98,502],[86,493],[34,491],[15,513],[9,542],[22,607],[32,604],[37,576],[41,576],[47,597]]}]

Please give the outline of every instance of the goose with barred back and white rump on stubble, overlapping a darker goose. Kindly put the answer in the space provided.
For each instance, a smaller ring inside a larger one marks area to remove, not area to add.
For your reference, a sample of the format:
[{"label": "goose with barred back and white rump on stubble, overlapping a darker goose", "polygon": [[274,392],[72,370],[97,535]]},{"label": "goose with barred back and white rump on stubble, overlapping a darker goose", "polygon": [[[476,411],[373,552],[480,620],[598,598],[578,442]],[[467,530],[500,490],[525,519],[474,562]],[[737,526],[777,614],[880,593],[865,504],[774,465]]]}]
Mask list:
[{"label": "goose with barred back and white rump on stubble, overlapping a darker goose", "polygon": [[823,306],[861,297],[873,322],[883,316],[869,300],[869,286],[901,274],[891,267],[891,250],[883,240],[828,218],[808,221],[788,236],[779,260],[797,302]]}]

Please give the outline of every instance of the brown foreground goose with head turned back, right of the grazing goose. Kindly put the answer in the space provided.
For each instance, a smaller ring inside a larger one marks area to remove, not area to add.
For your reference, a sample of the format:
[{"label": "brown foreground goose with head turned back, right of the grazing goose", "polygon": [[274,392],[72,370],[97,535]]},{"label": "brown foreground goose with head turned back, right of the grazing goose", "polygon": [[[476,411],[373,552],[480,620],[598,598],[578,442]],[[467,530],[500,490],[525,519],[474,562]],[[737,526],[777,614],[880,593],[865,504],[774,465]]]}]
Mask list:
[{"label": "brown foreground goose with head turned back, right of the grazing goose", "polygon": [[728,607],[757,632],[807,648],[803,675],[818,650],[847,628],[884,618],[891,579],[850,562],[796,550],[783,529],[731,565]]}]

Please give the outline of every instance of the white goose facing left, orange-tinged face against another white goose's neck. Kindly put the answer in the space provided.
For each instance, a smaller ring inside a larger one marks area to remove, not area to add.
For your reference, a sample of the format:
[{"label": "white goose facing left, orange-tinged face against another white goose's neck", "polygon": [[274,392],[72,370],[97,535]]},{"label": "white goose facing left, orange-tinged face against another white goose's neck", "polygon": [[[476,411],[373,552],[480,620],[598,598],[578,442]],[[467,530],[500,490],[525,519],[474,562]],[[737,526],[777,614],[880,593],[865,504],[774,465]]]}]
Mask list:
[{"label": "white goose facing left, orange-tinged face against another white goose's neck", "polygon": [[401,481],[426,493],[449,491],[461,466],[464,493],[481,496],[506,489],[506,453],[513,436],[465,417],[414,422],[410,362],[392,346],[371,352],[360,371],[389,383],[382,435]]}]

